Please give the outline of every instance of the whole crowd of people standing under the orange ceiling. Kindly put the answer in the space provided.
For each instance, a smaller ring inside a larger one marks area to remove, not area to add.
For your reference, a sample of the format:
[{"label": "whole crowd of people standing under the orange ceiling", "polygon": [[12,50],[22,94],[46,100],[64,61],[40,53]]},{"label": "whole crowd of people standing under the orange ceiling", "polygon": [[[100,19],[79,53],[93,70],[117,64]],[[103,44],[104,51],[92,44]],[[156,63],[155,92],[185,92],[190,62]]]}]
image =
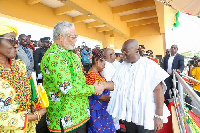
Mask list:
[{"label": "whole crowd of people standing under the orange ceiling", "polygon": [[[172,70],[184,69],[177,45],[160,67],[135,39],[121,50],[90,49],[85,42],[75,47],[74,24],[66,21],[54,26],[53,43],[44,37],[38,48],[30,35],[18,41],[17,35],[15,24],[0,20],[0,132],[116,133],[124,120],[127,133],[154,133],[168,122]],[[191,76],[199,75],[197,65]],[[32,72],[46,91],[47,108],[32,106]]]}]

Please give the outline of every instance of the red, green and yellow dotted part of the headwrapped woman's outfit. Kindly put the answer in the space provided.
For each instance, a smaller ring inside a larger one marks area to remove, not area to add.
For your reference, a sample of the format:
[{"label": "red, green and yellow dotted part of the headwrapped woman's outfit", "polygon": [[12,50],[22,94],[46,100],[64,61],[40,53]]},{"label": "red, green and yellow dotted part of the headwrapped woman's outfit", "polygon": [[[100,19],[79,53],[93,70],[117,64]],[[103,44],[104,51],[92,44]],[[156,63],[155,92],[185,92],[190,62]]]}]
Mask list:
[{"label": "red, green and yellow dotted part of the headwrapped woman's outfit", "polygon": [[16,112],[29,112],[31,106],[31,88],[29,79],[26,77],[26,73],[20,69],[20,66],[22,66],[22,61],[20,60],[10,60],[10,69],[6,69],[0,64],[0,77],[7,80],[15,89],[15,101],[19,105]]}]

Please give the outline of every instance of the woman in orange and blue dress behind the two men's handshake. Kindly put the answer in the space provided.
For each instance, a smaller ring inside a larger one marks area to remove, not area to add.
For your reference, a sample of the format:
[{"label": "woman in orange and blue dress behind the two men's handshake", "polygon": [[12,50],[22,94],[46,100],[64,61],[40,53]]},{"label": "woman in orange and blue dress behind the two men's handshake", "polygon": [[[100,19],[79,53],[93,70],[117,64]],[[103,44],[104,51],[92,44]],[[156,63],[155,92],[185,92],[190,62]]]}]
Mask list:
[{"label": "woman in orange and blue dress behind the two men's handshake", "polygon": [[90,120],[88,133],[115,133],[112,116],[106,111],[110,100],[110,91],[114,89],[114,85],[113,82],[106,82],[101,73],[105,67],[103,51],[93,49],[92,54],[92,67],[86,76],[86,83],[92,85],[99,81],[106,89],[101,95],[89,96]]}]

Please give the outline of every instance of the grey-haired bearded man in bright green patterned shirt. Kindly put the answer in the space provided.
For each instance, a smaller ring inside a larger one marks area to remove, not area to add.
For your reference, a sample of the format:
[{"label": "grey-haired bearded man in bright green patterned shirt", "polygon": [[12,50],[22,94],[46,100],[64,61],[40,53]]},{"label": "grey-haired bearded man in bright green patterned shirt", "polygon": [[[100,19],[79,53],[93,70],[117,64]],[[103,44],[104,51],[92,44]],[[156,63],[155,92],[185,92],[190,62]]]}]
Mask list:
[{"label": "grey-haired bearded man in bright green patterned shirt", "polygon": [[77,40],[74,24],[58,22],[53,39],[40,66],[49,98],[47,126],[51,132],[85,133],[90,118],[88,96],[101,94],[104,87],[85,83],[80,61],[73,53]]}]

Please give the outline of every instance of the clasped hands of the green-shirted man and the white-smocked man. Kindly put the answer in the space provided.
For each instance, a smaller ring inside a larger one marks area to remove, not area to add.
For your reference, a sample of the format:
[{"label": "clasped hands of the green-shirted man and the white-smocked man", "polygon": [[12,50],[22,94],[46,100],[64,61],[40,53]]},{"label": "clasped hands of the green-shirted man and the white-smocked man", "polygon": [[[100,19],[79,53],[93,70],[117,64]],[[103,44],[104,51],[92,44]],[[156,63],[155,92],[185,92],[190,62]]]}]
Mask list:
[{"label": "clasped hands of the green-shirted man and the white-smocked man", "polygon": [[105,89],[108,89],[110,91],[114,90],[114,83],[112,81],[109,82],[102,82],[102,81],[96,81],[94,83],[95,86],[95,95],[101,95]]}]

